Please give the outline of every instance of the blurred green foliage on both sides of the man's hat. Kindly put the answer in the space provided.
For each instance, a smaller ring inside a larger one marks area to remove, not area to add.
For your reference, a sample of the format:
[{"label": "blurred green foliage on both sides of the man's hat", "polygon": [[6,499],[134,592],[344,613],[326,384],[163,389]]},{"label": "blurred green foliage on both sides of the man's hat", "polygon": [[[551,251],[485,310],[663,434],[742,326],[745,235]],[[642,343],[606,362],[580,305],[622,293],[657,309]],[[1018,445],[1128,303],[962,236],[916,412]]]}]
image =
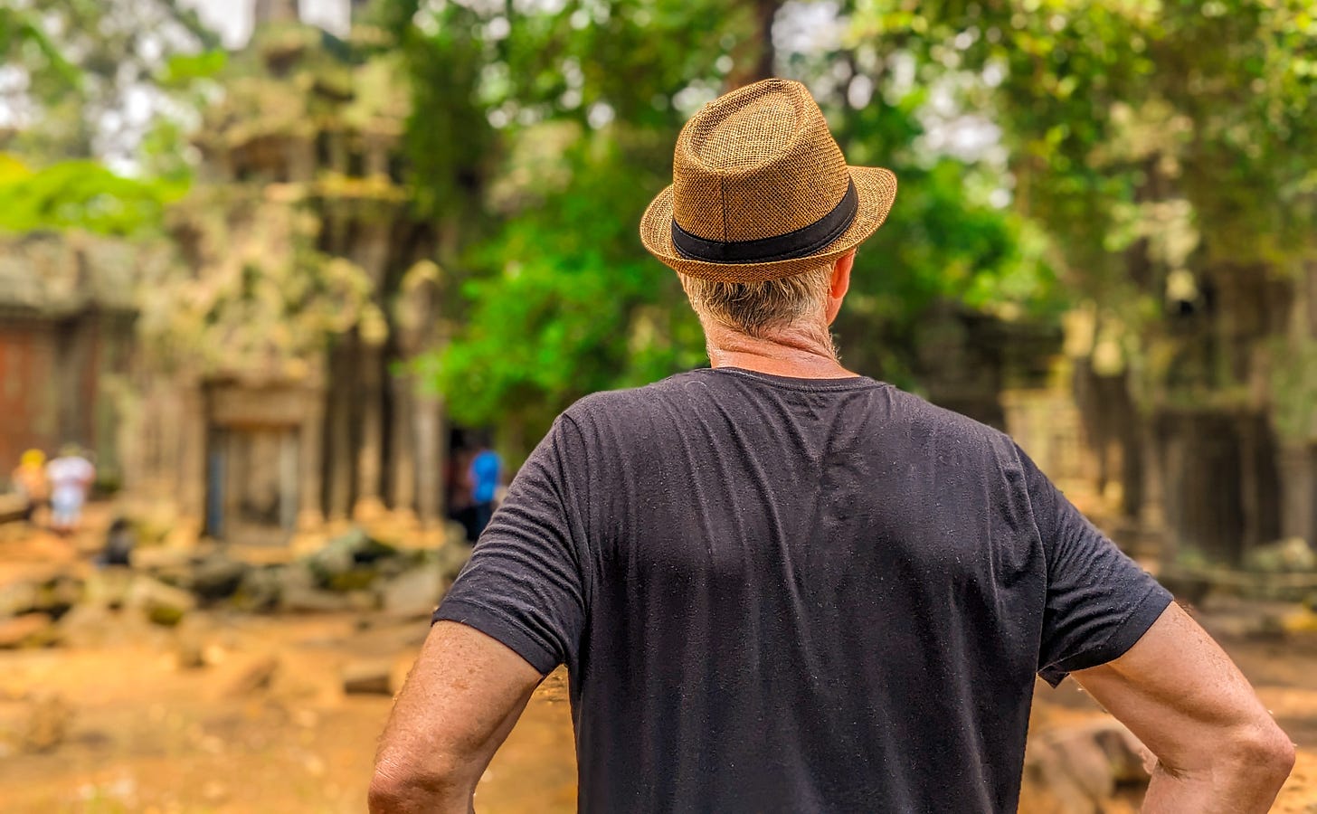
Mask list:
[{"label": "blurred green foliage on both sides of the man's hat", "polygon": [[[747,71],[769,47],[760,7],[777,5],[378,7],[408,53],[414,182],[425,211],[464,238],[441,258],[461,291],[456,333],[421,365],[457,420],[511,423],[532,439],[586,393],[703,364],[677,278],[636,229],[670,183],[682,122],[730,82],[756,78]],[[910,383],[914,328],[935,303],[1013,317],[1051,313],[1055,291],[1036,233],[986,203],[993,170],[914,149],[926,94],[896,87],[890,54],[872,51],[778,62],[822,88],[853,163],[901,178],[888,225],[861,248],[839,331],[848,361]],[[847,101],[838,65],[864,74],[872,104]]]}]

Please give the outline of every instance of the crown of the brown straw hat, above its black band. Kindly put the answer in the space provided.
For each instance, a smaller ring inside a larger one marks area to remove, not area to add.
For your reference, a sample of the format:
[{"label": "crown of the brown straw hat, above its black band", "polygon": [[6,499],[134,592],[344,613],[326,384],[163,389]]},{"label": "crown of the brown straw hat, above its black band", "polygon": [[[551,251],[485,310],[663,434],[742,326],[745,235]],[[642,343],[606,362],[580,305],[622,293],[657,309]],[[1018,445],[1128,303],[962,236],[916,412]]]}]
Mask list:
[{"label": "crown of the brown straw hat, above its black band", "polygon": [[846,157],[798,82],[765,79],[705,105],[673,155],[673,219],[715,241],[788,234],[847,192]]}]

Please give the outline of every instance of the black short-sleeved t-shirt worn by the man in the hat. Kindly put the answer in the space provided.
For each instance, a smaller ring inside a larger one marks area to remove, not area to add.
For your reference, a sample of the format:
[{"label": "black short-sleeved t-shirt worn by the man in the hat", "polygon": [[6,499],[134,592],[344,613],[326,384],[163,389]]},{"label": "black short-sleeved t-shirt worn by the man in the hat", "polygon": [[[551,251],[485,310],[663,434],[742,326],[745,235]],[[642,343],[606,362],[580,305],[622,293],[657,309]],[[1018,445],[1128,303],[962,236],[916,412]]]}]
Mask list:
[{"label": "black short-sleeved t-shirt worn by the man in the hat", "polygon": [[568,665],[581,811],[961,813],[1169,601],[1005,435],[719,369],[564,412],[435,618]]}]

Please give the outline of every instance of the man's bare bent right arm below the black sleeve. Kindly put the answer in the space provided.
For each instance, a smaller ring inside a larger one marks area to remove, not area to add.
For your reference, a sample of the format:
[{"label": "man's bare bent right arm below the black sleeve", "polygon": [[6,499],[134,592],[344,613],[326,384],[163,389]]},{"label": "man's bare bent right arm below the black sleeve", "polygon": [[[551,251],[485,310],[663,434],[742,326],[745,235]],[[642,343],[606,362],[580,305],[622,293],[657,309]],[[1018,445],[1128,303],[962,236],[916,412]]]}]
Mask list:
[{"label": "man's bare bent right arm below the black sleeve", "polygon": [[1173,602],[1123,656],[1073,677],[1156,756],[1147,814],[1264,813],[1295,764],[1249,680]]}]

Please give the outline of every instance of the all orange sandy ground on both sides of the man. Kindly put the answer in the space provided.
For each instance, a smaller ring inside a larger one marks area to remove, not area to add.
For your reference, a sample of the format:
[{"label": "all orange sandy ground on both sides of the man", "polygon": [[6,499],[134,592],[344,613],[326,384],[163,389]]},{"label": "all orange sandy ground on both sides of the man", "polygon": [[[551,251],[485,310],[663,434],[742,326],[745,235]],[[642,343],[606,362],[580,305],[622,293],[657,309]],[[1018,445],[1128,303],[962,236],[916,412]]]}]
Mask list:
[{"label": "all orange sandy ground on both sides of the man", "polygon": [[[0,544],[0,582],[79,556],[54,540]],[[194,612],[162,628],[128,611],[71,612],[65,644],[0,651],[5,813],[363,811],[391,699],[345,694],[342,670],[404,672],[427,630],[346,614]],[[1274,810],[1317,813],[1317,635],[1223,644],[1300,746]],[[1073,682],[1039,685],[1035,727],[1101,715]],[[475,802],[482,814],[574,810],[564,674],[535,694]]]}]

